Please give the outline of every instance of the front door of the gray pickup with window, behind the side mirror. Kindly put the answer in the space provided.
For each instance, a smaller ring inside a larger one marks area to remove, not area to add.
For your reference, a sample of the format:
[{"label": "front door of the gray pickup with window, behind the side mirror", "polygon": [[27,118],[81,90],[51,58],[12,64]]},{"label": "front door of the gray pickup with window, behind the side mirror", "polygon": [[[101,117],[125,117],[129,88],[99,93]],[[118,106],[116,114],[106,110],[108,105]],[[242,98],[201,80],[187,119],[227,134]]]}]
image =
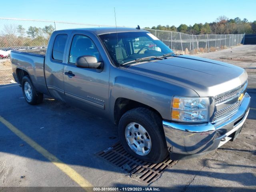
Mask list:
[{"label": "front door of the gray pickup with window, behind the side mirror", "polygon": [[[64,92],[66,100],[75,106],[106,115],[109,66],[100,54],[101,49],[98,39],[90,33],[72,34],[67,50],[68,60],[64,64]],[[78,68],[75,63],[79,56],[94,56],[104,65],[101,69]]]}]

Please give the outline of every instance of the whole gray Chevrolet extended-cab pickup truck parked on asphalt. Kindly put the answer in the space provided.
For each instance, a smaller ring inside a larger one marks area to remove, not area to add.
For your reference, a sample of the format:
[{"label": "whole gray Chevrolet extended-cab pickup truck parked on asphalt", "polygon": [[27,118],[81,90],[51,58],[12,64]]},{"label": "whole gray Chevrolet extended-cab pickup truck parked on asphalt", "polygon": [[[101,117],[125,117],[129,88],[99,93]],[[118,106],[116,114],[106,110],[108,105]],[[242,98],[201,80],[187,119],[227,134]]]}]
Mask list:
[{"label": "whole gray Chevrolet extended-cab pickup truck parked on asphalt", "polygon": [[124,148],[148,162],[215,150],[249,112],[244,69],[175,54],[138,28],[55,31],[46,51],[12,51],[11,61],[29,104],[46,94],[107,117]]}]

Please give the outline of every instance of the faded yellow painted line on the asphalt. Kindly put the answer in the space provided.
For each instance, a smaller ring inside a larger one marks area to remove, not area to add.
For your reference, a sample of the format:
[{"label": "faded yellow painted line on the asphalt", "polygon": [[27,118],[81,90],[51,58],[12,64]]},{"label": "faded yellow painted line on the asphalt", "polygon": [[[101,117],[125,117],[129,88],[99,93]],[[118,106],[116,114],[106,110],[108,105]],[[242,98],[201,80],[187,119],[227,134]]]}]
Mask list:
[{"label": "faded yellow painted line on the asphalt", "polygon": [[42,154],[45,158],[47,158],[50,162],[56,165],[62,172],[66,173],[72,180],[74,180],[81,187],[92,187],[92,184],[88,182],[85,178],[83,178],[78,172],[72,169],[70,166],[59,160],[56,156],[48,152],[34,140],[26,136],[16,127],[14,127],[11,123],[0,116],[0,122],[2,122],[6,127],[8,127],[12,132],[14,132],[19,138],[24,140],[27,144],[29,144],[32,148],[34,148],[37,152]]}]

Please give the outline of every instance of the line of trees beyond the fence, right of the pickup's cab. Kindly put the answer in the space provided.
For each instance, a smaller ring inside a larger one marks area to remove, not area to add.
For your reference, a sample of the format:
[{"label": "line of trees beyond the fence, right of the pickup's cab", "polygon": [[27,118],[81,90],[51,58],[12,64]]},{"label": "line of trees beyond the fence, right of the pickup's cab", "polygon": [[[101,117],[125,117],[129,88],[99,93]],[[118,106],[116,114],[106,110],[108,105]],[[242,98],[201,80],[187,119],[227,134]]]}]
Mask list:
[{"label": "line of trees beyond the fence, right of the pickup's cab", "polygon": [[152,28],[146,27],[146,29],[177,31],[186,34],[256,34],[256,20],[254,22],[248,22],[246,18],[241,20],[239,17],[234,19],[228,19],[226,16],[220,16],[215,22],[211,23],[195,23],[193,26],[187,26],[186,24],[180,24],[176,27],[174,25],[169,26],[153,26]]}]

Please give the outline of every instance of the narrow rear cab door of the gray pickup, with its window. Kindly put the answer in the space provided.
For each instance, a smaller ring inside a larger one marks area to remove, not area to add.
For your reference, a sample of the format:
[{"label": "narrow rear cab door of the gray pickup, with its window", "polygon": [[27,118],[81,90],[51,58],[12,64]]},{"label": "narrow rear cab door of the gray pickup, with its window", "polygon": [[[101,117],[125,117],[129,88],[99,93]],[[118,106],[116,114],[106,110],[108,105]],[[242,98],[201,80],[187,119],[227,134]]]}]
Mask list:
[{"label": "narrow rear cab door of the gray pickup, with its window", "polygon": [[[51,96],[64,100],[63,66],[66,60],[64,54],[68,42],[68,33],[53,33],[54,41],[50,40],[44,65],[45,78]],[[52,50],[51,52],[48,52]]]}]

